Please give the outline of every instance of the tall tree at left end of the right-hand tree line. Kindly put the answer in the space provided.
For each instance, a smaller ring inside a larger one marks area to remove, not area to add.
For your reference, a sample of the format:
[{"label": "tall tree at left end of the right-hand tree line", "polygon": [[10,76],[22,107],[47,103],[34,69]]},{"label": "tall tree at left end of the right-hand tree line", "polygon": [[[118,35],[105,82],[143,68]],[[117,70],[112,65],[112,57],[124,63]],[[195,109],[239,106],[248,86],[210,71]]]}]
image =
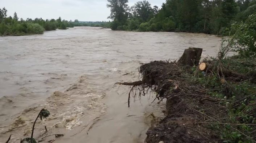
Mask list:
[{"label": "tall tree at left end of the right-hand tree line", "polygon": [[128,0],[108,0],[107,7],[110,8],[110,15],[108,18],[117,20],[124,24],[128,18]]}]

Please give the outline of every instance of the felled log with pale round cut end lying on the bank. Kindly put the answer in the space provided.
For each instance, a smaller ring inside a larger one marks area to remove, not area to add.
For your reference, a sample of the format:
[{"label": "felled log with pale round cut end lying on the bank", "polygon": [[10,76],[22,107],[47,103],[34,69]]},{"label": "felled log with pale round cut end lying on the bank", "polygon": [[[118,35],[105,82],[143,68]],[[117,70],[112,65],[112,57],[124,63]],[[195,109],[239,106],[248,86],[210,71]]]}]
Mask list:
[{"label": "felled log with pale round cut end lying on the bank", "polygon": [[226,68],[221,68],[221,67],[215,67],[212,65],[212,64],[209,64],[209,63],[201,63],[199,65],[199,69],[201,71],[204,71],[204,72],[218,72],[218,74],[220,76],[222,76],[222,73],[223,73],[223,76],[225,77],[231,77],[231,78],[235,78],[235,79],[239,79],[239,80],[245,80],[245,79],[248,79],[247,76],[243,75],[243,74],[240,74],[240,73],[237,73],[237,72],[233,72],[233,71],[230,71]]}]

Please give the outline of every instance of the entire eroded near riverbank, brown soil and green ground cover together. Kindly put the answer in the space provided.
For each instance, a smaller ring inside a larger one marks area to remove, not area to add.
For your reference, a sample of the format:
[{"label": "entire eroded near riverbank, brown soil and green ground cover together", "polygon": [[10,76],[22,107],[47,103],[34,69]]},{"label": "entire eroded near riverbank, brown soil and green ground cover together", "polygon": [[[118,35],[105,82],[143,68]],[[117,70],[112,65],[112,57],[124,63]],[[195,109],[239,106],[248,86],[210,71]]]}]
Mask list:
[{"label": "entire eroded near riverbank, brown soil and green ground cover together", "polygon": [[180,61],[150,62],[140,66],[141,81],[123,83],[139,89],[139,95],[150,88],[156,99],[167,98],[166,117],[147,131],[147,143],[255,142],[256,59],[233,56],[221,61],[204,61],[222,69],[217,73]]}]

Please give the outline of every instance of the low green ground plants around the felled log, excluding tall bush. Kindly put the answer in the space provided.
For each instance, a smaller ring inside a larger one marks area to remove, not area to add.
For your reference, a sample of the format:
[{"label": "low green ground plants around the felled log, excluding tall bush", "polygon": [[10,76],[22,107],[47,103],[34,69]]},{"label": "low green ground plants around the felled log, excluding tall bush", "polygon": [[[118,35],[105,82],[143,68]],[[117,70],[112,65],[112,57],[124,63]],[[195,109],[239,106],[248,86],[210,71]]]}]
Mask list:
[{"label": "low green ground plants around the felled log, excluding tall bush", "polygon": [[[211,63],[218,62],[213,59]],[[231,71],[242,73],[250,76],[250,73],[255,74],[256,58],[241,57],[239,55],[226,57],[221,60],[222,66]],[[207,95],[219,99],[229,99],[236,101],[220,102],[223,107],[227,107],[228,117],[222,120],[213,120],[214,122],[225,122],[223,126],[216,124],[210,125],[209,128],[220,133],[220,138],[225,143],[252,143],[255,135],[255,126],[249,124],[256,123],[256,85],[250,81],[234,82],[226,79],[226,83],[220,82],[218,74],[209,74],[197,71],[196,67],[192,67],[195,76],[188,75],[190,82],[202,85],[207,89]]]}]

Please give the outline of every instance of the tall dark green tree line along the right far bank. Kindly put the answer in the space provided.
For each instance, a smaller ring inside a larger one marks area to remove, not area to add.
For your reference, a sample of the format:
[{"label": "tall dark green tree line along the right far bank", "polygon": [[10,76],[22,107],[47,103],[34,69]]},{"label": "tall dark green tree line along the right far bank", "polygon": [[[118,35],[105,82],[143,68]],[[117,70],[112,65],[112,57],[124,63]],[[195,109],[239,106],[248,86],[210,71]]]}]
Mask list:
[{"label": "tall dark green tree line along the right far bank", "polygon": [[166,0],[159,9],[144,0],[108,0],[112,30],[227,34],[231,24],[256,13],[256,0]]}]

